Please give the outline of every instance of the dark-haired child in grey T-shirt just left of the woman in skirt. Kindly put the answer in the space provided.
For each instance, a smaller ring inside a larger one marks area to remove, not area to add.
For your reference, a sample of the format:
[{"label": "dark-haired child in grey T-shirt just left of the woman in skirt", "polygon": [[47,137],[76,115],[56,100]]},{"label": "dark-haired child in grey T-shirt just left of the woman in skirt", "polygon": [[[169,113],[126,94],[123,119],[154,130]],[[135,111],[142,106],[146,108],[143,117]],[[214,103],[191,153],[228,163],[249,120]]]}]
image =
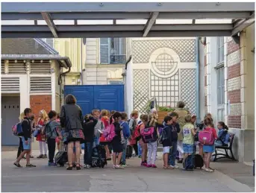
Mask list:
[{"label": "dark-haired child in grey T-shirt just left of the woman in skirt", "polygon": [[[50,118],[50,121],[46,124],[46,127],[49,127],[51,129],[51,136],[47,139],[48,144],[48,151],[49,151],[49,166],[56,165],[54,163],[54,155],[55,155],[55,148],[56,148],[56,138],[60,138],[59,133],[57,132],[57,127],[60,127],[60,123],[55,121],[57,116],[57,113],[54,110],[51,110],[48,113],[48,117]],[[49,124],[49,125],[48,125]]]}]

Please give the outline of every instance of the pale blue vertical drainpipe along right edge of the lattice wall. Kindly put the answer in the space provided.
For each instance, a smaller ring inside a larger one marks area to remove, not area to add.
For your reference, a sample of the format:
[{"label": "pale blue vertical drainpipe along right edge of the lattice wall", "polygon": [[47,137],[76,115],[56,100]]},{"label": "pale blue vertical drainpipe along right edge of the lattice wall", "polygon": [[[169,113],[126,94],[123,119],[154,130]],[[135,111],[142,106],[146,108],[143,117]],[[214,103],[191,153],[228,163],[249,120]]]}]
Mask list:
[{"label": "pale blue vertical drainpipe along right edge of the lattice wall", "polygon": [[196,37],[196,118],[200,122],[200,60],[199,60],[199,37]]}]

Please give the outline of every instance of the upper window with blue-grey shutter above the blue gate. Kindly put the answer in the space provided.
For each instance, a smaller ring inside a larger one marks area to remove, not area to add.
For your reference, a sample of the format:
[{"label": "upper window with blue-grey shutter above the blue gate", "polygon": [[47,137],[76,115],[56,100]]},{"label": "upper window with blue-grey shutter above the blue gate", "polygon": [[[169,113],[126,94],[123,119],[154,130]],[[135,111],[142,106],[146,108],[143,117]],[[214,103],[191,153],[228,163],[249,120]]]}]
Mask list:
[{"label": "upper window with blue-grey shutter above the blue gate", "polygon": [[125,38],[101,38],[100,39],[101,63],[125,63],[126,39]]}]

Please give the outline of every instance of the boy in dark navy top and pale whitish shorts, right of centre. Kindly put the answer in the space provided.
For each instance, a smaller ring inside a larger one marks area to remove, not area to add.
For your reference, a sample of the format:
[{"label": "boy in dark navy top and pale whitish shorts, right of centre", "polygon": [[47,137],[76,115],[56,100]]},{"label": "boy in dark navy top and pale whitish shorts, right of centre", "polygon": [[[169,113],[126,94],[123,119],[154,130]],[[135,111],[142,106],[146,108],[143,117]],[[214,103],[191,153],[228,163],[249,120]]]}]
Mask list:
[{"label": "boy in dark navy top and pale whitish shorts, right of centre", "polygon": [[172,146],[172,117],[166,116],[164,122],[165,126],[163,127],[163,133],[166,134],[166,138],[163,139],[163,168],[173,169],[168,165],[169,149]]}]

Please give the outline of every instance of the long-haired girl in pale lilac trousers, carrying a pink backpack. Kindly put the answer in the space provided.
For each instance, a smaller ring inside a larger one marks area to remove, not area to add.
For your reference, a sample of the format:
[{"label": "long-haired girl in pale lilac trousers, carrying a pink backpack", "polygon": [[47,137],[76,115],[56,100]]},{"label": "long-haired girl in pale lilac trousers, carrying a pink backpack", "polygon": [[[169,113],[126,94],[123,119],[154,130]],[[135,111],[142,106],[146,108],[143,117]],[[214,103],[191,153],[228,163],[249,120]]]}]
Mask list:
[{"label": "long-haired girl in pale lilac trousers, carrying a pink backpack", "polygon": [[158,128],[157,128],[157,121],[155,119],[155,115],[153,113],[149,114],[149,127],[154,127],[154,139],[152,142],[147,143],[148,148],[148,162],[147,167],[150,168],[157,168],[155,165],[155,160],[157,158],[157,139],[158,139]]}]

